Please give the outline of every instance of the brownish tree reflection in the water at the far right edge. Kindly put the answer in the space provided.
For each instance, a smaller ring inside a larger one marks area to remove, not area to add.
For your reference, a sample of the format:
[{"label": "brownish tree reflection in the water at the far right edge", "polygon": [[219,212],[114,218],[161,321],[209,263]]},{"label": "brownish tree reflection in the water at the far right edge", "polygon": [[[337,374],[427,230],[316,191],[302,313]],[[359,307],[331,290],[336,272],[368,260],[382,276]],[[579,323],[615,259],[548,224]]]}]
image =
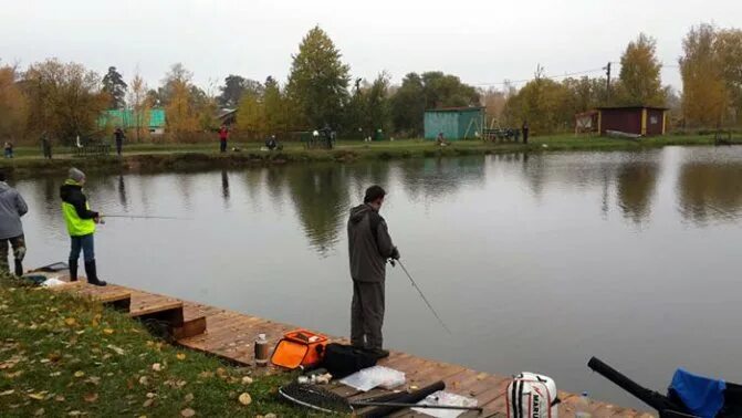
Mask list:
[{"label": "brownish tree reflection in the water at the far right edge", "polygon": [[686,163],[678,179],[679,210],[698,224],[738,219],[742,211],[742,164]]}]

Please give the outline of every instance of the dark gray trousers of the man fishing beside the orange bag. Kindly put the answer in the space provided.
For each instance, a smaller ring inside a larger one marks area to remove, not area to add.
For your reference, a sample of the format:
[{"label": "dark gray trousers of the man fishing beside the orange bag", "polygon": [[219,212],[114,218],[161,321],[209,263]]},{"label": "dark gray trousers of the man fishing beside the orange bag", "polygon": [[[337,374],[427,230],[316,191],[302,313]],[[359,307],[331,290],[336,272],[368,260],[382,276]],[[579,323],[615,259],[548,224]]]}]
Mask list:
[{"label": "dark gray trousers of the man fishing beside the orange bag", "polygon": [[384,282],[353,281],[351,303],[351,344],[369,349],[382,348],[384,337]]}]

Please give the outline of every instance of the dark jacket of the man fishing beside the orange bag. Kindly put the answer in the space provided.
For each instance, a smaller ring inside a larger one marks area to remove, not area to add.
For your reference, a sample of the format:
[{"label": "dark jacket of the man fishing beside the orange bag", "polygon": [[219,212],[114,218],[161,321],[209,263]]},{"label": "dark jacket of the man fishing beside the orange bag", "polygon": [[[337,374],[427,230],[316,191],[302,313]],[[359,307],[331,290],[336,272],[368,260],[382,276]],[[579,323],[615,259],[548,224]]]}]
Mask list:
[{"label": "dark jacket of the man fishing beside the orange bag", "polygon": [[386,262],[397,253],[386,221],[368,205],[351,209],[348,254],[351,276],[358,282],[384,282]]}]

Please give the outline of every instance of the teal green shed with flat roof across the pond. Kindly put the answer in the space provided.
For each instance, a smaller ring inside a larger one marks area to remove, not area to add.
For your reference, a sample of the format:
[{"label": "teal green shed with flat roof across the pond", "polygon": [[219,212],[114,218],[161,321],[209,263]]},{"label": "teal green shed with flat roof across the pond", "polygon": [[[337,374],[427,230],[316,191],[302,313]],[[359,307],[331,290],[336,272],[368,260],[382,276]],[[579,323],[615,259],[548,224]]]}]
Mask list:
[{"label": "teal green shed with flat roof across the pond", "polygon": [[446,107],[425,111],[425,138],[472,139],[482,133],[484,107]]}]

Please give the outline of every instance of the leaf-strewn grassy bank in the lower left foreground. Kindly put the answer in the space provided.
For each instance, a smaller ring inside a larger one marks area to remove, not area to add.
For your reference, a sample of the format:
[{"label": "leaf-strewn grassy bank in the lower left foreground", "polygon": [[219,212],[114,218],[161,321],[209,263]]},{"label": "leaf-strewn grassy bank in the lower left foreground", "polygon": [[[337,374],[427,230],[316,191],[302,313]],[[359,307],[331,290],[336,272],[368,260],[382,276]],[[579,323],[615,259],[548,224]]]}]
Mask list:
[{"label": "leaf-strewn grassy bank in the lower left foreground", "polygon": [[167,345],[124,314],[4,276],[0,328],[3,417],[305,415],[276,399],[285,375],[250,382],[248,369]]}]

